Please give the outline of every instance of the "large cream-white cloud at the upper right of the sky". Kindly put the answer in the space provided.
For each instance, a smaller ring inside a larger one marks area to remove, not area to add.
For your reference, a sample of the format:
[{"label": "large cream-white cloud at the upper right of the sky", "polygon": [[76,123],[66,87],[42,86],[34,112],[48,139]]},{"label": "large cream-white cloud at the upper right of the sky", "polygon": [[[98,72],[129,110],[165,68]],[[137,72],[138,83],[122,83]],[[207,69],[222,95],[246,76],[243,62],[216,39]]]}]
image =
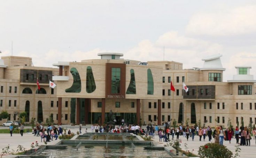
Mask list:
[{"label": "large cream-white cloud at the upper right of the sky", "polygon": [[195,35],[229,36],[256,32],[256,6],[224,8],[213,13],[197,13],[186,31]]}]

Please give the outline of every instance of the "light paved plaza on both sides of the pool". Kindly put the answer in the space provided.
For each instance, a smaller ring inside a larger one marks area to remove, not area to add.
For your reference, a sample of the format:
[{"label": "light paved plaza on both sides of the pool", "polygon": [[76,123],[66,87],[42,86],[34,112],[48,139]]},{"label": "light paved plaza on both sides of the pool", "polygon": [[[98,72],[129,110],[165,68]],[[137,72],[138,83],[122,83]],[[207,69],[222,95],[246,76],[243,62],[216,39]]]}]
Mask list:
[{"label": "light paved plaza on both sides of the pool", "polygon": [[[79,131],[79,126],[65,126],[63,125],[62,127],[70,129],[71,132],[76,133],[77,131]],[[144,126],[143,126],[144,127]],[[146,127],[146,126],[145,126]],[[161,126],[160,126],[161,127]],[[8,127],[0,127],[1,129],[3,128],[8,128]],[[82,133],[84,133],[85,128],[88,128],[87,131],[90,132],[91,131],[91,125],[87,125],[87,126],[83,126],[82,127]],[[17,150],[17,146],[18,145],[23,145],[24,148],[26,148],[26,150],[31,149],[31,143],[32,142],[36,142],[38,141],[39,145],[45,145],[44,142],[41,142],[41,138],[40,136],[33,136],[34,134],[30,133],[24,133],[23,136],[21,136],[20,134],[13,134],[13,136],[10,136],[10,134],[0,134],[0,151],[2,152],[2,148],[6,147],[8,144],[10,146],[10,149],[14,149],[15,151]],[[171,136],[170,136],[171,138]],[[174,136],[174,138],[176,138]],[[197,154],[199,146],[200,145],[204,145],[206,143],[208,143],[208,137],[206,137],[205,141],[199,141],[199,136],[195,136],[194,141],[192,141],[192,138],[189,138],[188,141],[186,138],[184,138],[183,136],[179,137],[181,139],[181,148],[183,150],[185,149],[184,144],[187,143],[187,147],[189,151],[193,151],[193,153]],[[203,138],[202,138],[203,140]],[[47,145],[54,145],[55,143],[57,143],[58,140],[53,140],[51,142],[48,142]],[[158,135],[155,135],[154,141],[159,142],[159,137]],[[211,142],[214,142],[214,140],[212,140]],[[163,146],[165,145],[166,142],[159,142],[157,146]],[[231,144],[228,143],[228,141],[224,141],[223,143],[224,145],[227,146],[227,148],[229,150],[231,150],[233,152],[233,155],[235,154],[235,146],[236,144],[236,140],[232,139],[231,140]],[[251,140],[251,146],[240,146],[241,148],[241,152],[239,153],[241,158],[255,158],[256,157],[256,144],[255,144],[255,140]],[[4,157],[15,157],[15,156],[4,156]]]}]

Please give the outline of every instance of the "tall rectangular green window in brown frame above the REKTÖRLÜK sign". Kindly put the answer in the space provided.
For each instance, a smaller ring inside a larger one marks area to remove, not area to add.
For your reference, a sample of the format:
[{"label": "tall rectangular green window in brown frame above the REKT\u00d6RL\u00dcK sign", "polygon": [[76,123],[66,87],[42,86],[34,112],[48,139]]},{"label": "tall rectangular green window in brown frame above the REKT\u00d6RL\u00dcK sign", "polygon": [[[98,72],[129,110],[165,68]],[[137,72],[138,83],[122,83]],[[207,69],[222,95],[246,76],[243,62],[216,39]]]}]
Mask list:
[{"label": "tall rectangular green window in brown frame above the REKT\u00d6RL\u00dcK sign", "polygon": [[111,68],[111,94],[120,93],[121,68]]}]

